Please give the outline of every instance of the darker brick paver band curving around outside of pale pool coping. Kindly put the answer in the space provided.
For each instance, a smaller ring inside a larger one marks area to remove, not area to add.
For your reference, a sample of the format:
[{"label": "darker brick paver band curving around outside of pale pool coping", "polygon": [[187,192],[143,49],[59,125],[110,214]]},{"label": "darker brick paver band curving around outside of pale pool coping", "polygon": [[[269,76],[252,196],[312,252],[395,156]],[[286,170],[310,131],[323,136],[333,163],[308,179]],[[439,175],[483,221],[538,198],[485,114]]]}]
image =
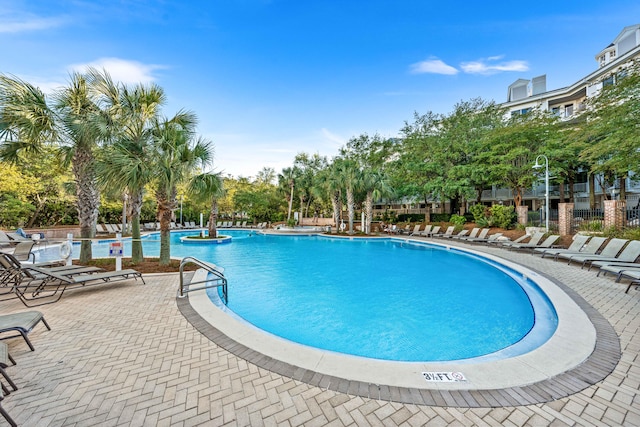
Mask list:
[{"label": "darker brick paver band curving around outside of pale pool coping", "polygon": [[[500,260],[505,261],[502,258]],[[584,312],[594,327],[595,346],[588,357],[576,366],[540,381],[509,387],[474,389],[465,387],[463,383],[458,383],[455,388],[443,387],[443,384],[402,387],[322,374],[313,369],[276,360],[229,338],[205,320],[192,306],[190,299],[179,299],[178,307],[196,329],[232,354],[270,371],[321,388],[373,399],[433,406],[494,407],[536,404],[574,394],[602,380],[615,368],[621,352],[619,340],[613,327],[597,310],[571,288],[554,278],[530,267],[525,268],[551,281]]]}]

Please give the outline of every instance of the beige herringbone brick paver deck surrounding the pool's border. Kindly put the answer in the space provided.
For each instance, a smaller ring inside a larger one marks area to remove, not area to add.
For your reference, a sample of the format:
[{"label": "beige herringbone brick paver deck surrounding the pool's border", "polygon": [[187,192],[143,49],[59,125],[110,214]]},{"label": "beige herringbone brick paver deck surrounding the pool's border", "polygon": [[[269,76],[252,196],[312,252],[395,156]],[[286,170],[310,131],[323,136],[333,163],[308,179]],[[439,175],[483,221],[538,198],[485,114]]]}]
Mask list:
[{"label": "beige herringbone brick paver deck surrounding the pool's border", "polygon": [[[621,358],[613,372],[574,394],[537,404],[499,392],[491,402],[495,407],[471,408],[453,407],[464,403],[455,400],[429,406],[361,397],[235,356],[183,316],[176,274],[145,275],[146,286],[106,284],[37,308],[52,330],[38,325],[29,335],[34,352],[20,338],[7,341],[18,362],[7,372],[19,389],[3,407],[25,426],[640,425],[640,291],[625,294],[626,286],[613,276],[596,277],[529,253],[461,246],[520,263],[575,292],[587,309],[597,311],[595,317],[606,320],[603,328],[610,325],[619,337]],[[2,313],[24,310],[16,300],[0,302]],[[618,342],[606,338],[607,346]],[[242,356],[233,343],[227,345]],[[590,361],[593,366],[612,362],[615,349],[605,350],[601,360]],[[571,375],[565,377],[555,386],[572,382]]]}]

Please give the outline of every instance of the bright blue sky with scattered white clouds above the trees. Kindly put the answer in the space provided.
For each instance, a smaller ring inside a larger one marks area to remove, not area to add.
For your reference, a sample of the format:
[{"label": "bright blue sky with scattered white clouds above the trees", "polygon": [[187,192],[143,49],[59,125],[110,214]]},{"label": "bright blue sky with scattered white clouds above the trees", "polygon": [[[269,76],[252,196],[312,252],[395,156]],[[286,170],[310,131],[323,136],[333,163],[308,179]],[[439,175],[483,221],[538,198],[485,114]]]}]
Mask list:
[{"label": "bright blue sky with scattered white clouds above the trees", "polygon": [[215,169],[248,177],[396,136],[414,112],[503,102],[518,78],[567,86],[637,23],[637,0],[0,0],[0,72],[45,91],[87,65],[155,82],[165,115],[198,115]]}]

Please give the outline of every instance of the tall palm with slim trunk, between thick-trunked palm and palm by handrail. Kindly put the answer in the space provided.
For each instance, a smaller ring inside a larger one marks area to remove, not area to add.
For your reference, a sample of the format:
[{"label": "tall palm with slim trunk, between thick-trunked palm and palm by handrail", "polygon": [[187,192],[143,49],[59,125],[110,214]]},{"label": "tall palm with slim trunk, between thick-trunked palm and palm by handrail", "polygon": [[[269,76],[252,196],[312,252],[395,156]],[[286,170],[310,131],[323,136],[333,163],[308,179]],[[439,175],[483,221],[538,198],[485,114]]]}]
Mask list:
[{"label": "tall palm with slim trunk, between thick-trunked palm and palm by handrail", "polygon": [[109,123],[114,144],[102,153],[97,163],[99,177],[104,185],[125,192],[131,212],[131,261],[142,262],[140,240],[140,212],[145,186],[153,171],[150,163],[153,150],[153,123],[165,103],[165,94],[157,85],[136,85],[128,88],[115,85],[109,75],[90,70],[94,90],[104,100],[109,111]]}]

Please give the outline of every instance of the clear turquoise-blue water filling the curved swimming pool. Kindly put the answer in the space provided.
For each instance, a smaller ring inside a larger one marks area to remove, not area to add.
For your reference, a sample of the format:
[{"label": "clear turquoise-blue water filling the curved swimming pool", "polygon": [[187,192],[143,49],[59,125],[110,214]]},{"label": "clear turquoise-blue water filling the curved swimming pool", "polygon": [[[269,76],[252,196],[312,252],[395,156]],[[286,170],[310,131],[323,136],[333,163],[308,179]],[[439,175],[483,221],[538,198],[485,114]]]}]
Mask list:
[{"label": "clear turquoise-blue water filling the curved swimming pool", "polygon": [[[229,244],[181,244],[185,234],[194,232],[172,234],[172,256],[224,267],[228,307],[235,314],[320,349],[397,361],[459,360],[500,351],[511,356],[540,345],[557,324],[534,283],[457,250],[398,239],[228,230]],[[94,256],[106,256],[106,247],[96,245]],[[157,256],[159,235],[145,239],[144,251]],[[215,291],[211,297],[217,298]]]}]

